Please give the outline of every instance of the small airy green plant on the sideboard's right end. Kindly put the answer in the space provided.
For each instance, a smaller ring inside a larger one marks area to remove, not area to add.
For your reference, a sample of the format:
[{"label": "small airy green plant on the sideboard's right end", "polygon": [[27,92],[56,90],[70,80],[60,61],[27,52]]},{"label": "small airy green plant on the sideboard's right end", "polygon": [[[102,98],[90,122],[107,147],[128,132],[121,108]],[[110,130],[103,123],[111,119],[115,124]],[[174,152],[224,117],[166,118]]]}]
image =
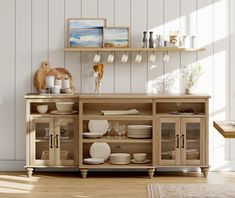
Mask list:
[{"label": "small airy green plant on the sideboard's right end", "polygon": [[185,66],[183,70],[183,75],[187,84],[185,94],[190,94],[195,88],[200,76],[202,75],[202,66],[200,64],[192,64],[189,66]]}]

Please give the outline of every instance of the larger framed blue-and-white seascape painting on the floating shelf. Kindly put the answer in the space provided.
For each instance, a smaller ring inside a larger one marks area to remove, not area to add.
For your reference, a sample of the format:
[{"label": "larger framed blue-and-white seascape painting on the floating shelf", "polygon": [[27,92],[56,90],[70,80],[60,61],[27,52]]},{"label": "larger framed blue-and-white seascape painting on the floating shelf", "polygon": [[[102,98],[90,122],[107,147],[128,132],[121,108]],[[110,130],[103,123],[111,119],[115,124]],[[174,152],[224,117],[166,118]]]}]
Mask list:
[{"label": "larger framed blue-and-white seascape painting on the floating shelf", "polygon": [[68,47],[102,47],[106,19],[68,19]]}]

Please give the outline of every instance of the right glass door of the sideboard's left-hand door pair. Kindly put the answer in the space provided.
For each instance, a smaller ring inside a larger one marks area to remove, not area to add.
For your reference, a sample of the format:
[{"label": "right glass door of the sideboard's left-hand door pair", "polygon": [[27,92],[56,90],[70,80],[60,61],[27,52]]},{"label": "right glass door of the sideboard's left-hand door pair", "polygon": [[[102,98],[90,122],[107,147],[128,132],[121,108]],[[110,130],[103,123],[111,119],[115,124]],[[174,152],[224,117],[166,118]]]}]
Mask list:
[{"label": "right glass door of the sideboard's left-hand door pair", "polygon": [[75,120],[55,119],[55,165],[75,165]]}]

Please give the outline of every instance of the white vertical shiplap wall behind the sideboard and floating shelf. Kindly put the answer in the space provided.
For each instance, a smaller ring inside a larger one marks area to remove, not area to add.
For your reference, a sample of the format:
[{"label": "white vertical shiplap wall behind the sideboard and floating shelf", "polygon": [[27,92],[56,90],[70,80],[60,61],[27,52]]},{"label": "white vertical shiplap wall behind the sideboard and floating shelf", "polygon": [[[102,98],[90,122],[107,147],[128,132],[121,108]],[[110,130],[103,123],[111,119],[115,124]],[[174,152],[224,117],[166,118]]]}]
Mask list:
[{"label": "white vertical shiplap wall behind the sideboard and floating shelf", "polygon": [[[35,91],[34,72],[42,61],[52,67],[67,68],[74,77],[77,92],[94,90],[92,57],[94,53],[64,53],[67,44],[67,18],[107,18],[108,26],[128,26],[131,46],[137,47],[144,30],[168,34],[196,34],[199,53],[170,53],[163,64],[147,62],[143,53],[136,64],[136,53],[126,64],[122,53],[115,62],[105,63],[102,92],[138,93],[167,88],[184,90],[181,68],[196,61],[204,68],[198,92],[209,93],[210,124],[213,119],[235,119],[235,3],[233,0],[0,0],[0,169],[22,166],[25,160],[25,106],[23,95]],[[108,53],[102,53],[103,61]],[[173,84],[172,84],[173,82]],[[210,129],[210,161],[214,169],[235,170],[235,141],[224,140]]]}]

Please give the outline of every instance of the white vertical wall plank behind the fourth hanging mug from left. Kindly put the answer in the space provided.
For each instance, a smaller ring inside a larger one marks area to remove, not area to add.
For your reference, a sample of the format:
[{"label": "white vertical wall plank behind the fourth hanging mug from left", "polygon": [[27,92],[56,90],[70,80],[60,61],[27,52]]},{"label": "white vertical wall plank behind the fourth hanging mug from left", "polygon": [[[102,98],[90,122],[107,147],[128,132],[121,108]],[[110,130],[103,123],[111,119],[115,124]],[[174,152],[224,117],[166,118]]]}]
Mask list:
[{"label": "white vertical wall plank behind the fourth hanging mug from left", "polygon": [[[141,13],[141,14],[140,14]],[[131,46],[140,46],[142,32],[147,30],[147,0],[131,1]],[[131,92],[144,93],[147,91],[147,72],[146,62],[147,53],[142,54],[142,62],[136,63],[136,53],[131,56]]]}]

